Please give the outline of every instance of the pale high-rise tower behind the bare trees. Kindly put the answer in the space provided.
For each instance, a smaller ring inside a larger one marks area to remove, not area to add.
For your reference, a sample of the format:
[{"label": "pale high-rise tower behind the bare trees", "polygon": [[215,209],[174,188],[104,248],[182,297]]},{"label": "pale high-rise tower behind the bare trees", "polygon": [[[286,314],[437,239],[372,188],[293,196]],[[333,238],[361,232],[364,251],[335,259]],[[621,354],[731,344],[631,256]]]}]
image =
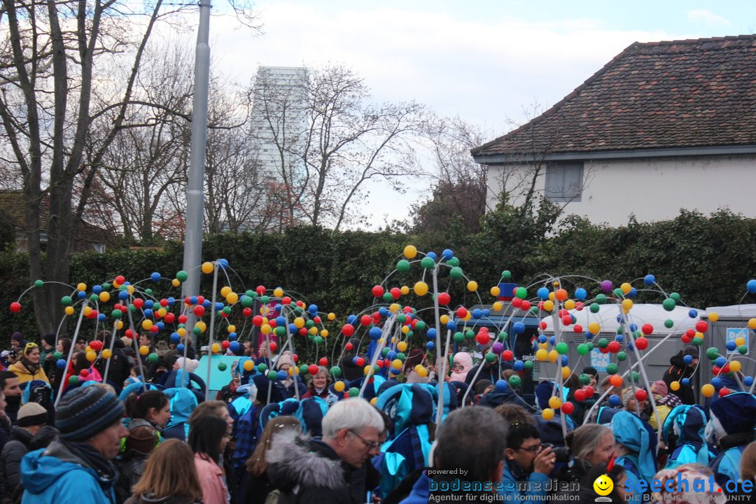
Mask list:
[{"label": "pale high-rise tower behind the bare trees", "polygon": [[252,125],[265,180],[292,187],[302,178],[300,154],[307,128],[307,69],[259,66],[253,88]]}]

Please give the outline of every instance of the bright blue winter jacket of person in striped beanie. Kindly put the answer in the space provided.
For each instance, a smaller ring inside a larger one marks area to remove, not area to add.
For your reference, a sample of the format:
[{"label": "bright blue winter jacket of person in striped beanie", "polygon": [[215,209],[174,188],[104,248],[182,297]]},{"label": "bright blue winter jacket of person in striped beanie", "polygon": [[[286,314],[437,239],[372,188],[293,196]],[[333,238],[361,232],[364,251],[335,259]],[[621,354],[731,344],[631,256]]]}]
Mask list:
[{"label": "bright blue winter jacket of person in striped beanie", "polygon": [[21,459],[21,504],[114,504],[116,478],[102,480],[60,441]]}]

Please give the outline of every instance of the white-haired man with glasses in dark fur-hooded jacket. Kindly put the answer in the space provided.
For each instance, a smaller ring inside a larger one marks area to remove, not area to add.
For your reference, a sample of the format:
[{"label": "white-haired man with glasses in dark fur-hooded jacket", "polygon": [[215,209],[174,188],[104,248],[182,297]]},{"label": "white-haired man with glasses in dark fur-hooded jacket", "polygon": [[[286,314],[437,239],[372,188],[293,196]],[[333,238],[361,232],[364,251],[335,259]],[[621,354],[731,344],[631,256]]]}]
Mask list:
[{"label": "white-haired man with glasses in dark fur-hooded jacket", "polygon": [[279,502],[365,502],[364,466],[380,453],[383,418],[367,400],[353,397],[330,407],[322,428],[321,439],[290,431],[274,436],[265,459]]}]

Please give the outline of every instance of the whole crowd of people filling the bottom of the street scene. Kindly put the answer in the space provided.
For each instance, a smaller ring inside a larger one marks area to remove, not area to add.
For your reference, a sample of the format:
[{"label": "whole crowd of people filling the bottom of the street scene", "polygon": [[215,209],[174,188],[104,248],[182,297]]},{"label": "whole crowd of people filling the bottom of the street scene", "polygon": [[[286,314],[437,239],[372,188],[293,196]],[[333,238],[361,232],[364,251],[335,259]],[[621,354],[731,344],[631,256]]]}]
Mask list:
[{"label": "whole crowd of people filling the bottom of the street scene", "polygon": [[[532,400],[519,394],[507,385],[519,375],[490,348],[461,348],[444,376],[414,349],[401,374],[380,369],[365,383],[358,339],[337,377],[326,366],[303,377],[290,351],[247,342],[228,385],[206,397],[191,348],[101,332],[110,362],[92,361],[81,341],[15,333],[3,353],[0,504],[594,502],[603,475],[605,501],[721,504],[756,482],[756,397],[695,404],[678,386],[696,369],[690,348],[652,384],[653,402],[588,367],[559,391],[580,408],[547,419],[553,382]],[[582,397],[581,385],[595,393]]]}]

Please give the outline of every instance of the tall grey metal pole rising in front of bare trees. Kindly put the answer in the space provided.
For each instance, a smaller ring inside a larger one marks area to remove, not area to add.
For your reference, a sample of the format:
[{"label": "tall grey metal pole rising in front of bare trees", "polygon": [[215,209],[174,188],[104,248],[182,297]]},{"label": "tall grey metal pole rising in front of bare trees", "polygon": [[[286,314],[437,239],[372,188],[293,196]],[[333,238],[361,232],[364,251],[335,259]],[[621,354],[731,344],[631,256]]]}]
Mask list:
[{"label": "tall grey metal pole rising in front of bare trees", "polygon": [[[200,0],[200,26],[197,29],[197,48],[194,56],[194,103],[191,119],[191,147],[189,150],[189,183],[187,189],[186,230],[184,231],[183,295],[200,292],[202,261],[202,230],[204,218],[205,152],[207,143],[207,97],[210,81],[210,0]],[[188,317],[187,331],[194,327],[194,315]],[[193,338],[196,342],[196,338]]]}]

